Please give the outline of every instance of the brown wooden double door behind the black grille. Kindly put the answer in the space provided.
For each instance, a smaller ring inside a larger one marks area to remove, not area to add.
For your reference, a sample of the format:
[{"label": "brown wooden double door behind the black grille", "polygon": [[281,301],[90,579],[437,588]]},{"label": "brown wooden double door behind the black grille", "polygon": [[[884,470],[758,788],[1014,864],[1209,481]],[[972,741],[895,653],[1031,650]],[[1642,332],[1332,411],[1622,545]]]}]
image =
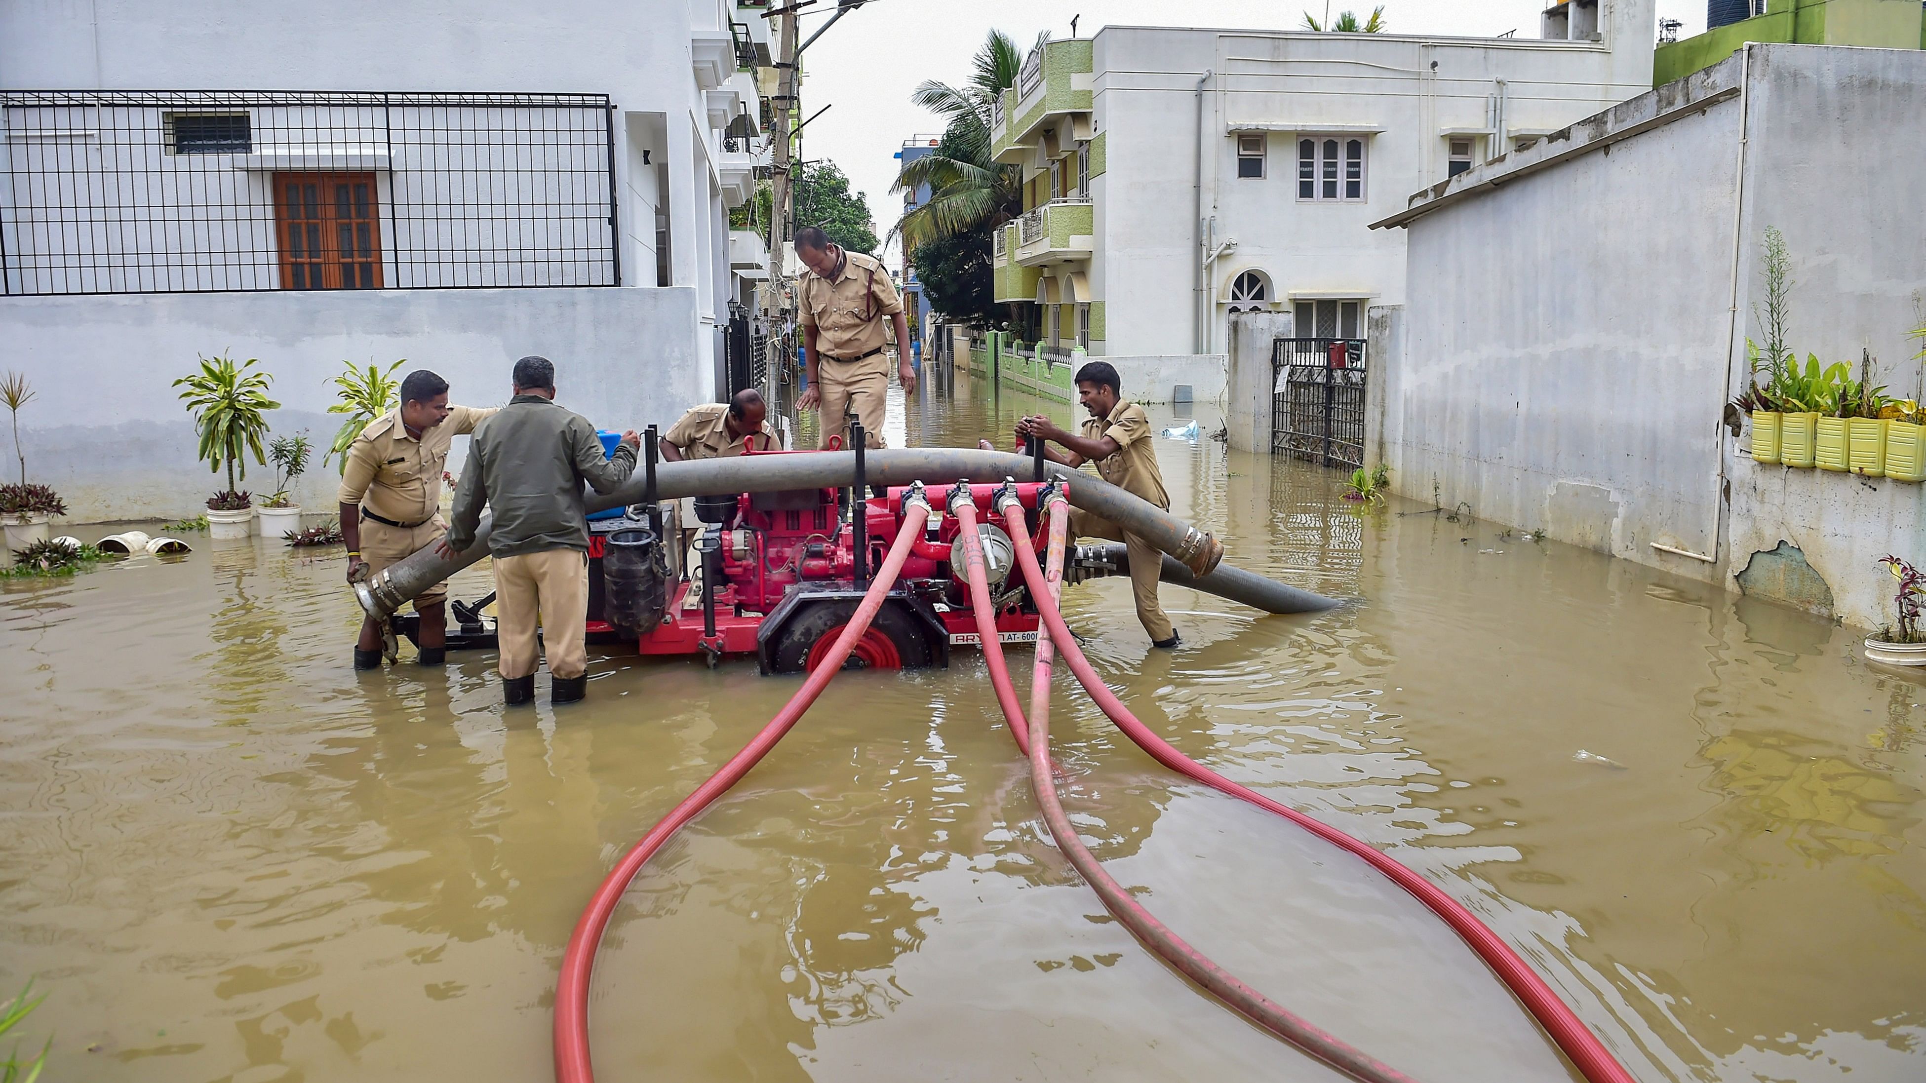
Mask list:
[{"label": "brown wooden double door behind the black grille", "polygon": [[374,173],[275,173],[281,289],[381,289]]}]

